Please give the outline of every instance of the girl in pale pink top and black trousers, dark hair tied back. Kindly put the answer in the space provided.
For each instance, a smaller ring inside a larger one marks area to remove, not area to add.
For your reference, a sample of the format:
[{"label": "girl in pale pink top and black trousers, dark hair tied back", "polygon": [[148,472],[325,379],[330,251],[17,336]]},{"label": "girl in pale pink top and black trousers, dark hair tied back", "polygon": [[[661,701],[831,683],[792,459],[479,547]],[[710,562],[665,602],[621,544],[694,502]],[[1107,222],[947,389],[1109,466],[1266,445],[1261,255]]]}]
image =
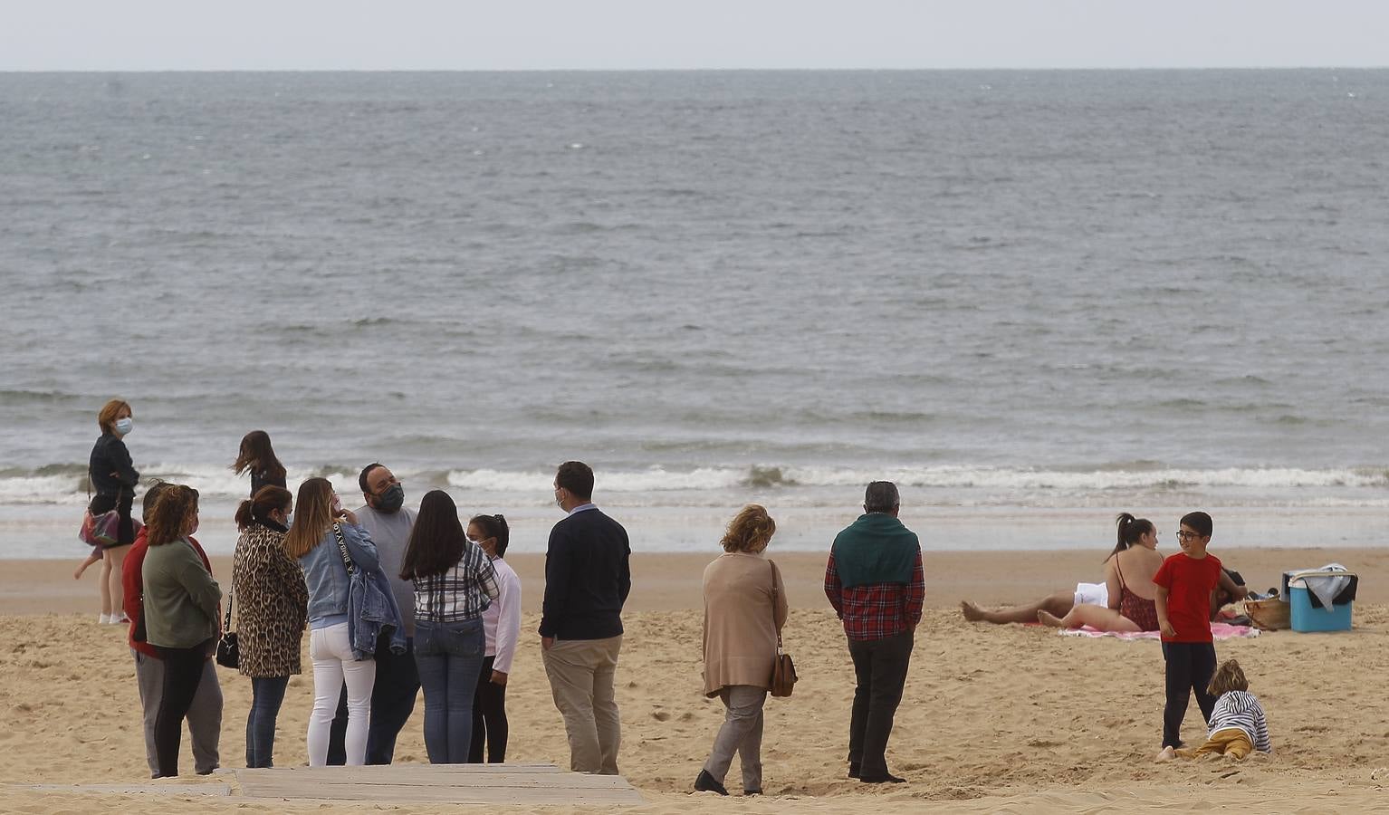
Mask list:
[{"label": "girl in pale pink top and black trousers, dark hair tied back", "polygon": [[468,764],[507,759],[507,676],[521,635],[521,578],[503,558],[511,530],[501,515],[475,515],[468,521],[468,540],[482,547],[497,572],[497,601],[482,612],[486,639],[478,690],[472,697],[472,747]]}]

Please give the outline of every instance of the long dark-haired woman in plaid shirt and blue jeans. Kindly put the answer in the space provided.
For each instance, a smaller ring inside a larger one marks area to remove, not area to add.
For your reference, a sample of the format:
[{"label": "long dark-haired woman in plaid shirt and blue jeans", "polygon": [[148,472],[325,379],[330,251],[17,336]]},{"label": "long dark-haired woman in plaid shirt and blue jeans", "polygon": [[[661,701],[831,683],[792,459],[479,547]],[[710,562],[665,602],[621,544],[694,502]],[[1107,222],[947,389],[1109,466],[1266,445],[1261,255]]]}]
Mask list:
[{"label": "long dark-haired woman in plaid shirt and blue jeans", "polygon": [[400,579],[415,586],[415,666],[425,691],[429,764],[464,764],[486,636],[482,612],[500,596],[496,569],[468,540],[443,490],[425,493]]}]

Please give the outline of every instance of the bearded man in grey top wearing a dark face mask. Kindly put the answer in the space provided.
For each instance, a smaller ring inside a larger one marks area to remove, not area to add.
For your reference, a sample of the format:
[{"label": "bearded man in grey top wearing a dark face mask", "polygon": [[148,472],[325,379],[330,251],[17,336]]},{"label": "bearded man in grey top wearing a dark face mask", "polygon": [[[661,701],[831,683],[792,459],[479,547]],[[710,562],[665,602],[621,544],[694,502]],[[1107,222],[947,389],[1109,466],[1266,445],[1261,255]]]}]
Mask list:
[{"label": "bearded man in grey top wearing a dark face mask", "polygon": [[[404,508],[406,490],[379,461],[363,468],[357,476],[367,505],[357,510],[357,521],[371,533],[381,557],[381,571],[390,580],[390,593],[400,607],[401,625],[406,629],[406,653],[392,654],[389,637],[382,635],[376,646],[376,683],[371,689],[371,729],[367,733],[367,764],[390,764],[396,753],[396,736],[410,721],[419,696],[419,673],[415,671],[415,589],[408,580],[400,579],[400,561],[410,543],[410,530],[415,525],[415,511]],[[340,765],[346,761],[344,737],[347,733],[347,687],[343,686],[338,698],[338,715],[333,718],[328,740],[328,764]]]}]

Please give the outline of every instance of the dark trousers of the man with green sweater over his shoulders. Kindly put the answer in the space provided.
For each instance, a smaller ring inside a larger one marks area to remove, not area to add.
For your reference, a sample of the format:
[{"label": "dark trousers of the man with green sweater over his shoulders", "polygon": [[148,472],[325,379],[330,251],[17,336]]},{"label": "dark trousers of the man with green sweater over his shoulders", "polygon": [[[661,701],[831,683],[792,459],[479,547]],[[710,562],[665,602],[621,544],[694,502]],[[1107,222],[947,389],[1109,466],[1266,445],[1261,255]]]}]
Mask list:
[{"label": "dark trousers of the man with green sweater over his shoulders", "polygon": [[849,640],[858,680],[849,719],[849,764],[863,778],[888,775],[888,736],[907,684],[911,646],[911,632],[881,640]]}]

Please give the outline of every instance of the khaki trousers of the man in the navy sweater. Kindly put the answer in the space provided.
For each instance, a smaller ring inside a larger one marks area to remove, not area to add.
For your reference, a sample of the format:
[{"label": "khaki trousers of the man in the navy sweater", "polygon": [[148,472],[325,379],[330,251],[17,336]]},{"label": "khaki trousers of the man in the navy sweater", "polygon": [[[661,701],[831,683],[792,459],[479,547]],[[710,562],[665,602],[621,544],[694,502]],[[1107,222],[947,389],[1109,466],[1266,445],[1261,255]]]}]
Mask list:
[{"label": "khaki trousers of the man in the navy sweater", "polygon": [[613,691],[622,636],[606,640],[556,640],[542,651],[554,707],[569,737],[569,769],[617,775],[621,719]]}]

